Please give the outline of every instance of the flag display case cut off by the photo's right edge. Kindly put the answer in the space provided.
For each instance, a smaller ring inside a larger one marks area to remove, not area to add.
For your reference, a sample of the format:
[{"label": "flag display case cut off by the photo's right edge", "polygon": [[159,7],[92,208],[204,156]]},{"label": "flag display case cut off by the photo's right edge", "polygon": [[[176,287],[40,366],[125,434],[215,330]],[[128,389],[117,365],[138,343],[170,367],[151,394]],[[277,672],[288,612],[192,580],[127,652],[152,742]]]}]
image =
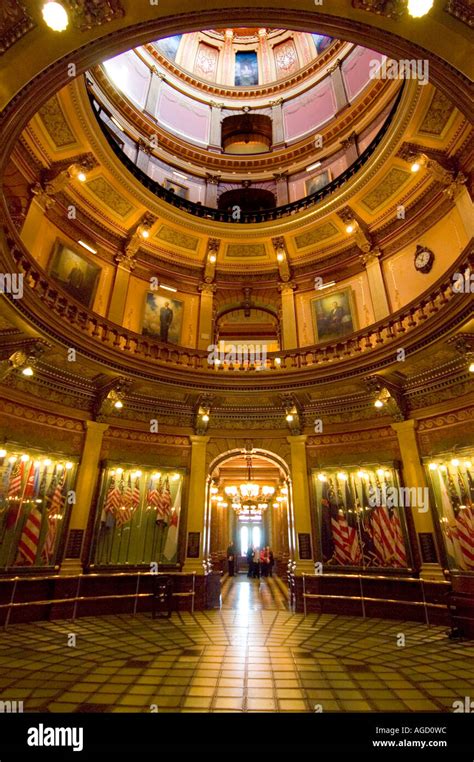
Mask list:
[{"label": "flag display case cut off by the photo's right edge", "polygon": [[448,567],[474,573],[474,453],[439,457],[425,468]]}]

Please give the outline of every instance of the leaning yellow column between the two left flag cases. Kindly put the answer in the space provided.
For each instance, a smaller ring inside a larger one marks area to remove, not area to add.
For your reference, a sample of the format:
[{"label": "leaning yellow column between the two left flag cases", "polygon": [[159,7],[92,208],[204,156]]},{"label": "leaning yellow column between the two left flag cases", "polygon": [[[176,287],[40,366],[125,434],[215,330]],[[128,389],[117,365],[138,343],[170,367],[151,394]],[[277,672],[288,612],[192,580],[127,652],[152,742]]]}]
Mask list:
[{"label": "leaning yellow column between the two left flag cases", "polygon": [[86,438],[75,487],[76,502],[72,507],[66,554],[61,564],[60,574],[82,573],[84,537],[99,476],[102,440],[108,428],[107,423],[86,421]]}]

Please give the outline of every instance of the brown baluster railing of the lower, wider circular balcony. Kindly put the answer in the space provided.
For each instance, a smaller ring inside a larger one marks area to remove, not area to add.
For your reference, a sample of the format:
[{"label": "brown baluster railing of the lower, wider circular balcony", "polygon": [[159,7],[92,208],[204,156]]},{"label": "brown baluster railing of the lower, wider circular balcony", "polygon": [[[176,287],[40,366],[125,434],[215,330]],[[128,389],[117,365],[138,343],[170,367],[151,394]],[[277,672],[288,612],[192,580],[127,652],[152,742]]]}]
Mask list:
[{"label": "brown baluster railing of the lower, wider circular balcony", "polygon": [[[466,267],[471,268],[474,260],[471,245],[453,264],[450,272],[435,283],[431,291],[423,294],[416,303],[412,302],[390,317],[337,342],[269,353],[265,363],[234,360],[231,363],[221,362],[210,366],[204,350],[164,344],[158,339],[143,337],[87,311],[62,292],[59,286],[53,287],[49,284],[46,273],[24,250],[19,238],[14,240],[9,237],[6,229],[4,233],[7,243],[2,252],[4,271],[17,269],[27,276],[25,298],[22,302],[25,303],[24,306],[34,323],[40,328],[43,325],[48,329],[48,333],[51,333],[51,317],[55,316],[61,322],[58,338],[64,339],[69,336],[72,329],[74,335],[70,337],[71,345],[79,345],[83,336],[85,340],[93,341],[98,345],[98,357],[101,356],[101,347],[108,347],[111,350],[120,350],[122,355],[145,361],[148,366],[151,360],[152,364],[156,365],[173,365],[208,374],[224,373],[234,369],[252,374],[261,372],[263,368],[281,373],[304,370],[315,365],[321,367],[324,364],[350,361],[351,358],[376,350],[383,351],[387,345],[397,342],[401,334],[405,334],[404,340],[408,342],[410,334],[416,332],[421,325],[426,324],[430,318],[449,305],[454,296],[458,297],[459,304],[469,304],[469,294],[458,294],[453,290],[453,275]],[[10,298],[9,295],[6,297]],[[89,353],[90,349],[89,344]]]}]

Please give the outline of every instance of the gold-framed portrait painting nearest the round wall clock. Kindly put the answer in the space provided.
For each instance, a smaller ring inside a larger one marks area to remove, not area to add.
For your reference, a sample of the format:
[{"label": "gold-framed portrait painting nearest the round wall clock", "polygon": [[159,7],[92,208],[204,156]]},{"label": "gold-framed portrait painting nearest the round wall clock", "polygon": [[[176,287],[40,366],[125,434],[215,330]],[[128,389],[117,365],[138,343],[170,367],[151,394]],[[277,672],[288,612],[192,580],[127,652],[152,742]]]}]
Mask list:
[{"label": "gold-framed portrait painting nearest the round wall clock", "polygon": [[311,301],[316,343],[336,341],[357,331],[352,289],[344,288]]}]

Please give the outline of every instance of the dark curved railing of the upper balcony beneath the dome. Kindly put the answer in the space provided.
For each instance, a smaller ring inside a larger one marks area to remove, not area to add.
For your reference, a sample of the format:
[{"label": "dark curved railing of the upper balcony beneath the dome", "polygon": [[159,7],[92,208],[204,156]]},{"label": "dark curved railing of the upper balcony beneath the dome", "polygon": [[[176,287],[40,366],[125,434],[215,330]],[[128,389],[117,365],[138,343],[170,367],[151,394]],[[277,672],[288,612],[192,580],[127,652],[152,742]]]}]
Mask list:
[{"label": "dark curved railing of the upper balcony beneath the dome", "polygon": [[[404,91],[404,83],[400,90],[398,91],[397,97],[394,101],[394,104],[390,110],[389,115],[385,119],[384,124],[378,131],[375,138],[372,140],[371,143],[367,146],[367,148],[361,153],[360,156],[357,157],[355,162],[350,165],[347,169],[344,170],[340,175],[338,175],[334,180],[331,180],[327,185],[324,186],[324,188],[321,188],[320,190],[316,191],[315,193],[310,194],[309,196],[305,196],[304,198],[301,198],[297,201],[292,201],[291,204],[285,204],[284,206],[277,206],[274,209],[267,209],[262,211],[255,211],[255,212],[245,212],[241,211],[239,215],[234,215],[231,212],[214,209],[209,206],[203,206],[201,204],[197,204],[193,201],[188,201],[185,198],[180,198],[177,194],[172,193],[170,190],[163,188],[159,183],[157,183],[155,180],[153,180],[151,177],[149,177],[146,172],[144,172],[142,169],[136,166],[136,164],[133,163],[133,161],[125,154],[125,152],[122,150],[121,146],[117,143],[117,137],[114,133],[110,131],[110,129],[107,127],[107,125],[104,123],[102,119],[102,115],[106,114],[109,118],[113,116],[113,114],[107,112],[104,107],[99,104],[95,100],[94,93],[89,89],[89,98],[91,101],[92,110],[94,111],[97,122],[100,125],[102,132],[111,147],[112,151],[115,153],[115,155],[120,159],[120,161],[124,164],[124,166],[131,172],[131,174],[142,184],[147,188],[151,193],[153,193],[158,198],[163,199],[163,201],[166,201],[168,204],[171,204],[172,206],[177,207],[183,212],[188,212],[189,214],[194,215],[195,217],[203,217],[204,219],[212,220],[213,222],[230,222],[230,223],[256,223],[256,222],[271,222],[272,220],[279,220],[282,217],[287,217],[291,214],[296,214],[297,212],[301,212],[303,209],[309,209],[316,204],[318,204],[320,201],[322,201],[324,198],[327,198],[332,193],[337,191],[339,188],[342,188],[345,183],[347,183],[348,180],[350,180],[352,177],[354,177],[357,172],[359,172],[360,169],[364,166],[364,164],[367,163],[367,161],[370,159],[376,148],[380,145],[381,141],[387,134],[387,131],[393,121],[393,118],[397,112],[398,106],[400,104],[400,100],[402,97]],[[137,144],[137,151],[138,151],[138,144]]]}]

